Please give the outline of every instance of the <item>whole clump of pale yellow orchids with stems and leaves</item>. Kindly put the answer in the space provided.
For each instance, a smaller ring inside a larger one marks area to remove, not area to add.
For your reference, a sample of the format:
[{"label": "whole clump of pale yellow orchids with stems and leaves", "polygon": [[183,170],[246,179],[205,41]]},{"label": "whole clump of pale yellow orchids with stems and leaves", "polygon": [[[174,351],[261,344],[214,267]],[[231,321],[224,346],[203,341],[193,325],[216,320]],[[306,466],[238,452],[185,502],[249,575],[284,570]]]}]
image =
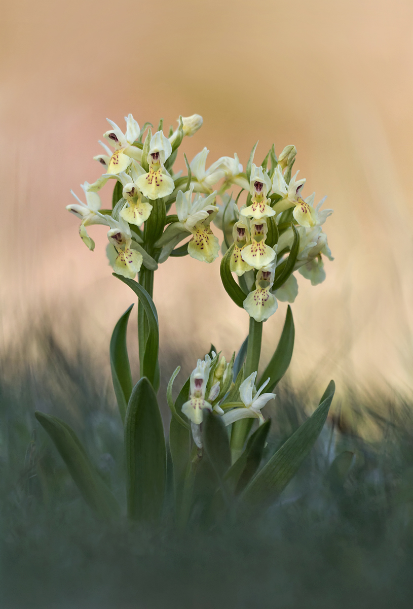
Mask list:
[{"label": "whole clump of pale yellow orchids with stems and leaves", "polygon": [[[313,285],[324,281],[323,256],[333,258],[322,225],[332,210],[321,209],[324,199],[314,206],[314,193],[303,199],[305,179],[297,178],[299,172],[292,175],[295,146],[286,146],[277,158],[273,145],[256,165],[255,144],[245,172],[236,154],[221,157],[206,169],[209,151],[204,148],[191,163],[184,155],[187,173],[182,175],[173,165],[184,138],[195,135],[203,124],[201,116],[179,117],[178,128],[171,127],[168,136],[162,119],[154,135],[153,125],[139,127],[132,114],[125,121],[123,133],[108,119],[111,128],[103,137],[111,148],[99,141],[105,154],[94,157],[105,172],[94,183],[82,185],[84,200],[72,192],[77,202],[66,209],[81,220],[80,237],[89,250],[95,244],[87,228],[107,227],[106,253],[113,274],[139,300],[141,378],[134,387],[126,347],[131,307],[117,322],[110,344],[114,392],[125,428],[128,515],[151,521],[164,516],[168,476],[173,480],[176,522],[183,525],[200,502],[215,514],[269,504],[294,476],[321,432],[334,384],[330,382],[313,415],[274,454],[268,454],[271,420],[265,420],[262,409],[276,398],[273,390],[291,361],[290,306],[274,355],[257,376],[263,323],[277,311],[279,300],[294,302],[298,293],[294,273]],[[110,180],[112,209],[102,209],[99,191]],[[212,225],[223,233],[221,246]],[[154,272],[170,256],[189,255],[211,263],[220,251],[221,280],[235,305],[249,315],[248,337],[228,361],[212,346],[174,399],[173,383],[180,367],[176,368],[166,395],[172,412],[167,445],[157,398],[161,372],[158,315],[152,300]],[[36,417],[92,509],[105,517],[121,513],[74,431],[52,415],[37,412]],[[211,488],[211,476],[213,491],[201,492],[200,488]]]}]

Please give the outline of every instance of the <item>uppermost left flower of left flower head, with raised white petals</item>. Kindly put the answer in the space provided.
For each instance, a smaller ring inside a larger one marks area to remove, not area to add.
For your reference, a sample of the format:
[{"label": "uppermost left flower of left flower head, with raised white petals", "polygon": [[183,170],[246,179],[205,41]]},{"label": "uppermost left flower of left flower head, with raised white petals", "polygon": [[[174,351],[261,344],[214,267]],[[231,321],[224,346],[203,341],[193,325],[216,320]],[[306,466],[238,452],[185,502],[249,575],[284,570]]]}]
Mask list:
[{"label": "uppermost left flower of left flower head, with raised white petals", "polygon": [[[125,121],[127,123],[126,133],[123,133],[115,122],[109,120],[108,118],[106,121],[108,121],[112,128],[109,129],[109,131],[106,131],[103,137],[106,138],[115,149],[115,151],[111,154],[109,162],[107,163],[107,172],[108,174],[119,174],[121,171],[126,171],[128,169],[131,158],[134,158],[136,161],[140,161],[142,158],[142,150],[136,146],[132,146],[134,141],[139,138],[141,129],[139,128],[139,125],[133,118],[132,114],[125,116]],[[99,157],[97,158],[100,160]],[[104,157],[102,158],[105,160]]]}]

